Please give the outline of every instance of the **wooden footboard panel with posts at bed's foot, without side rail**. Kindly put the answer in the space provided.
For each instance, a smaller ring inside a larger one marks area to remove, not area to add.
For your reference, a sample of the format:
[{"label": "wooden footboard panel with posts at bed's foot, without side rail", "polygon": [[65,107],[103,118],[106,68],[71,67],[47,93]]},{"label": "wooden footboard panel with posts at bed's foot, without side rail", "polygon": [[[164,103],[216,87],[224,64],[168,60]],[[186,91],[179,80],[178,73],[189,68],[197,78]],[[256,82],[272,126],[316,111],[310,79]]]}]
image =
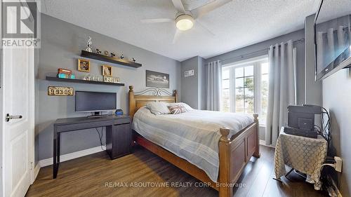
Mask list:
[{"label": "wooden footboard panel with posts at bed's foot, without side rail", "polygon": [[228,138],[230,130],[220,128],[218,188],[220,197],[233,196],[233,187],[251,156],[260,157],[258,140],[258,114],[253,114],[255,122]]}]

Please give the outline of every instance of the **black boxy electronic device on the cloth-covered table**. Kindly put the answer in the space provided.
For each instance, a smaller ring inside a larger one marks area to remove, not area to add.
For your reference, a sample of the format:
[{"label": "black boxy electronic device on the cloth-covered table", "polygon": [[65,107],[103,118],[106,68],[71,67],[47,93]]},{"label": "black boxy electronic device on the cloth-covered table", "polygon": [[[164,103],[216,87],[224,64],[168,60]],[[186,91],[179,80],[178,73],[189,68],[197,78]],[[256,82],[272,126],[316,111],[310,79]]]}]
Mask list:
[{"label": "black boxy electronic device on the cloth-covered table", "polygon": [[289,105],[288,126],[284,127],[284,133],[317,138],[317,130],[314,129],[314,115],[322,114],[322,107],[316,105]]}]

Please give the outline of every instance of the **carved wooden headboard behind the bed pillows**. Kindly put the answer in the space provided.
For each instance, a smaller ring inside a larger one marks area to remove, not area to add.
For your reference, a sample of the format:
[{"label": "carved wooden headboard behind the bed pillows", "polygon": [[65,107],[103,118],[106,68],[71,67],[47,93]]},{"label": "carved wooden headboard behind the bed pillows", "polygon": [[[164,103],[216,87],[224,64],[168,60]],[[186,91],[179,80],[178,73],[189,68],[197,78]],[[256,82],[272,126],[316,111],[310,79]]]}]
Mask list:
[{"label": "carved wooden headboard behind the bed pillows", "polygon": [[[145,93],[152,92],[152,95],[144,95]],[[162,96],[161,93],[165,93],[168,96]],[[134,93],[133,86],[129,86],[129,116],[133,118],[134,114],[140,107],[145,106],[147,102],[178,102],[177,90],[173,90],[173,93],[169,93],[163,88],[147,88],[138,93]]]}]

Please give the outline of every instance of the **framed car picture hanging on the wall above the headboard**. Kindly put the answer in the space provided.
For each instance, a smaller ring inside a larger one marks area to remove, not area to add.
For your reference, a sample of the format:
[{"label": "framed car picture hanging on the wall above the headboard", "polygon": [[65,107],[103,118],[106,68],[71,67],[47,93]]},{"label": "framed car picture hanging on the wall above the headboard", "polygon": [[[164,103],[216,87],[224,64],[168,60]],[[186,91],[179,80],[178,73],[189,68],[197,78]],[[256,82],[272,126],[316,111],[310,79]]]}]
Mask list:
[{"label": "framed car picture hanging on the wall above the headboard", "polygon": [[146,70],[146,87],[169,88],[169,74]]}]

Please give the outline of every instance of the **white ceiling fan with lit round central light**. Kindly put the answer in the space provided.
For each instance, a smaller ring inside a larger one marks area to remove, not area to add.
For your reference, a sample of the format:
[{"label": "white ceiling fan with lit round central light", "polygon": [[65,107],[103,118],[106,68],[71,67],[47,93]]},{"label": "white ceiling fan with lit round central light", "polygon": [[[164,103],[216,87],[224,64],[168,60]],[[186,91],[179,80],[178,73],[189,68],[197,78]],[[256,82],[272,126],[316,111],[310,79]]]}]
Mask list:
[{"label": "white ceiling fan with lit round central light", "polygon": [[181,0],[172,0],[173,6],[176,7],[176,10],[178,11],[175,18],[150,18],[143,19],[141,20],[141,22],[176,22],[176,32],[173,36],[173,43],[176,43],[176,39],[180,32],[192,29],[195,22],[199,27],[202,27],[202,29],[206,30],[208,33],[214,36],[214,34],[209,29],[201,25],[201,23],[199,23],[197,19],[201,18],[201,16],[203,15],[206,15],[206,13],[209,13],[215,10],[216,8],[219,8],[220,6],[229,3],[230,1],[232,0],[215,0],[204,6],[200,6],[198,8],[192,9],[191,11],[187,11],[185,10]]}]

